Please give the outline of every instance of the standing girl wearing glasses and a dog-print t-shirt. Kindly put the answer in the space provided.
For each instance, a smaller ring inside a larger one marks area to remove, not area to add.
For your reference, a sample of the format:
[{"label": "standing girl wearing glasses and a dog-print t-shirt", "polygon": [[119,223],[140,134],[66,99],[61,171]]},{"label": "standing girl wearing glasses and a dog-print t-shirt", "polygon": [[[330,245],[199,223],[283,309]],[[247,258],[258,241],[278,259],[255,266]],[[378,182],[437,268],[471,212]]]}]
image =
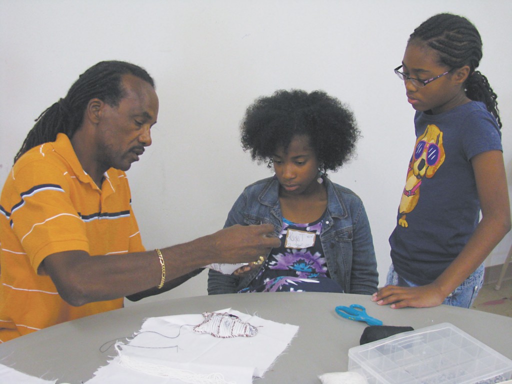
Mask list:
[{"label": "standing girl wearing glasses and a dog-print t-shirt", "polygon": [[387,286],[372,297],[380,305],[469,308],[483,261],[510,230],[497,96],[476,70],[481,58],[475,26],[444,13],[414,30],[395,69],[416,110],[417,140]]}]

